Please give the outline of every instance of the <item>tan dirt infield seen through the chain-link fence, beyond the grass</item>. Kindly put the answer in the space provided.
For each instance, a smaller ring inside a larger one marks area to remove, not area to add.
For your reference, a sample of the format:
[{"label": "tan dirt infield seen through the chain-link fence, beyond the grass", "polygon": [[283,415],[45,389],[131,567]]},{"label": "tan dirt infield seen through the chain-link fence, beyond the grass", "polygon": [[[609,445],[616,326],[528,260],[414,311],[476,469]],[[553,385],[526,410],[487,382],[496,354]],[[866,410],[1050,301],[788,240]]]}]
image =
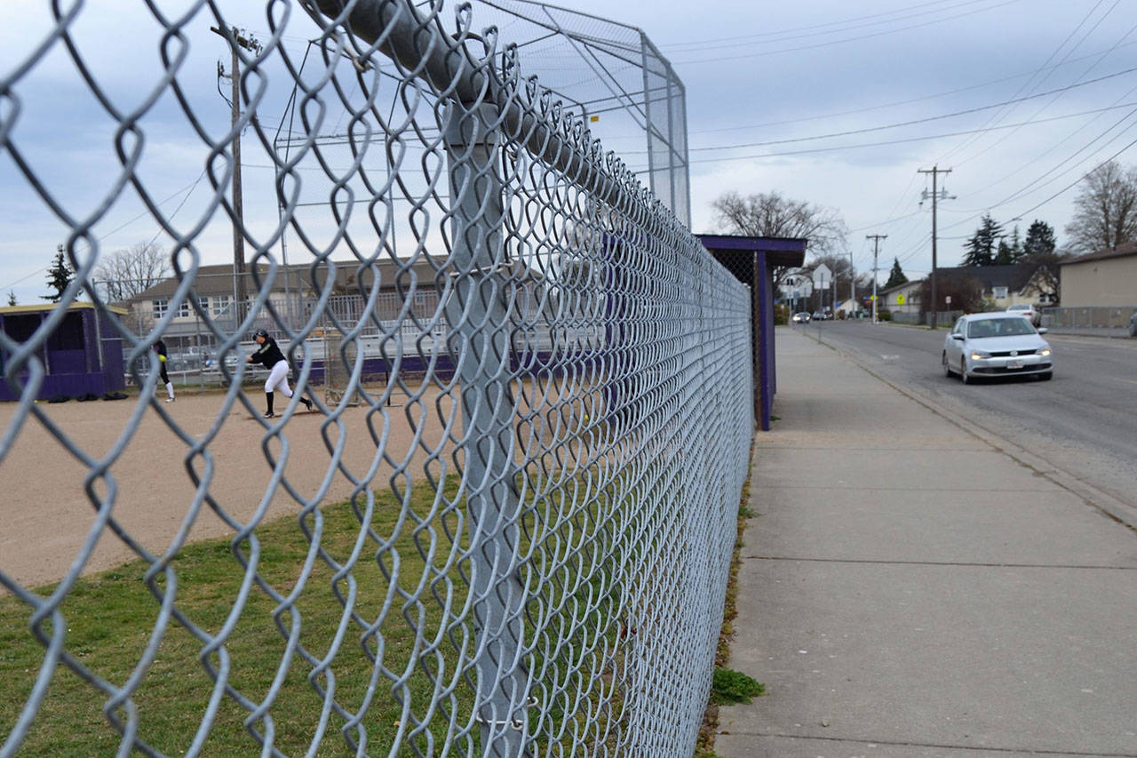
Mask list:
[{"label": "tan dirt infield seen through the chain-link fence, beyond the grass", "polygon": [[[264,395],[250,393],[255,409],[264,405]],[[282,401],[283,398],[277,398]],[[401,397],[406,403],[407,398]],[[130,417],[138,410],[138,398],[125,401],[40,403],[36,409],[56,425],[86,455],[102,459],[124,434],[130,434],[125,450],[109,468],[109,480],[117,487],[113,517],[153,554],[169,549],[183,522],[191,539],[234,534],[207,504],[192,512],[194,485],[186,469],[186,458],[196,440],[216,428],[208,444],[213,473],[208,492],[231,518],[247,522],[268,497],[266,518],[296,513],[300,503],[284,487],[271,488],[272,465],[263,450],[267,444],[273,455],[288,443],[283,467],[284,479],[304,499],[316,499],[326,485],[324,500],[347,500],[354,485],[335,470],[332,450],[342,450],[341,464],[357,479],[371,478],[372,488],[388,485],[395,470],[390,461],[376,463],[375,438],[384,439],[387,458],[396,463],[410,460],[409,476],[424,477],[426,453],[437,450],[445,439],[440,410],[433,399],[422,405],[405,404],[372,410],[349,407],[342,415],[342,429],[322,413],[299,412],[283,427],[280,439],[273,439],[262,420],[242,404],[223,410],[224,396],[182,393],[175,403],[159,402],[177,427],[190,439],[183,439],[166,423],[159,412],[148,406],[141,422],[130,432]],[[0,434],[10,434],[19,406],[0,403]],[[281,407],[277,407],[277,412]],[[448,415],[446,407],[442,413]],[[412,423],[408,415],[414,419]],[[453,414],[457,436],[460,414]],[[274,419],[280,421],[281,419]],[[420,429],[418,452],[415,453],[414,428]],[[342,435],[342,442],[340,439]],[[327,442],[325,442],[325,437]],[[266,443],[266,440],[268,440]],[[448,470],[453,462],[447,460]],[[442,463],[434,461],[438,473]],[[193,470],[205,472],[206,461],[193,460]],[[94,552],[82,570],[84,574],[117,566],[134,558],[134,553],[113,530],[98,529],[97,509],[84,492],[89,468],[48,431],[34,415],[24,419],[15,443],[0,459],[0,571],[24,586],[36,586],[63,578],[77,559],[84,542],[97,535]],[[325,483],[326,480],[326,483]],[[97,483],[97,493],[107,485]],[[268,494],[266,495],[266,491]],[[0,592],[5,592],[0,588]]]}]

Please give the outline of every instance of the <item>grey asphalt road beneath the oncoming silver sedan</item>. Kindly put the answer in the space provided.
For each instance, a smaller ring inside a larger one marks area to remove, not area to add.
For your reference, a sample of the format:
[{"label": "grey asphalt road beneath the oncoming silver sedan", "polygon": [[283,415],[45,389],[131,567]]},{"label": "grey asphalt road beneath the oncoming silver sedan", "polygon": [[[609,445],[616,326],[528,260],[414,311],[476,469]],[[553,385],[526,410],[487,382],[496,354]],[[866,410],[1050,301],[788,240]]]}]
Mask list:
[{"label": "grey asphalt road beneath the oncoming silver sedan", "polygon": [[945,329],[868,321],[792,328],[1106,493],[1128,506],[1126,521],[1137,527],[1137,339],[1048,333],[1051,381],[964,385],[946,378],[940,366]]}]

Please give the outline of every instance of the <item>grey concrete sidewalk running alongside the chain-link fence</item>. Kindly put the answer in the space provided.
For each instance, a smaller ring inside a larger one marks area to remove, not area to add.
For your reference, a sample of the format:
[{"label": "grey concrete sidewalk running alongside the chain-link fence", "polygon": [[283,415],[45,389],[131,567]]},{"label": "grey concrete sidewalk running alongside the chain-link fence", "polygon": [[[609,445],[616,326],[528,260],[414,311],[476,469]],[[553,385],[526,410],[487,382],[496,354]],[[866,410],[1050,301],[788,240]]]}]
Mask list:
[{"label": "grey concrete sidewalk running alongside the chain-link fence", "polygon": [[778,387],[715,752],[1137,756],[1137,533],[789,329]]}]

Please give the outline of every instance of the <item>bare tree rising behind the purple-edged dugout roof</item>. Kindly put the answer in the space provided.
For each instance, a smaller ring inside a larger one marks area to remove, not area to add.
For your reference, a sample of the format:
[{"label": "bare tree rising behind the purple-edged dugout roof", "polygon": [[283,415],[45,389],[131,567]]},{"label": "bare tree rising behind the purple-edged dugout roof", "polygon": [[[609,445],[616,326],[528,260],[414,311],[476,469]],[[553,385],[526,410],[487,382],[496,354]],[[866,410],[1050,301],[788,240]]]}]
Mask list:
[{"label": "bare tree rising behind the purple-edged dugout roof", "polygon": [[848,229],[832,208],[791,200],[778,192],[746,197],[727,192],[711,207],[717,213],[719,225],[736,234],[807,239],[810,252],[819,257],[840,255],[845,249]]}]

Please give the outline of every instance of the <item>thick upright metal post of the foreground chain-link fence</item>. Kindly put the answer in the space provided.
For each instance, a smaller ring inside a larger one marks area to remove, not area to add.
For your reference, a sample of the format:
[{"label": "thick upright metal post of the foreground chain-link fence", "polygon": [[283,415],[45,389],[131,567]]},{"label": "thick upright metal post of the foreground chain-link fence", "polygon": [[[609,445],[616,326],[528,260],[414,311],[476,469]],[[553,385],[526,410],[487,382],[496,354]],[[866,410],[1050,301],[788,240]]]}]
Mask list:
[{"label": "thick upright metal post of the foreground chain-link fence", "polygon": [[447,303],[457,360],[464,447],[471,592],[476,625],[475,718],[482,755],[521,756],[528,733],[528,672],[521,660],[520,497],[515,481],[514,399],[503,283],[503,183],[489,104],[448,109],[446,153],[454,211],[454,289]]}]

